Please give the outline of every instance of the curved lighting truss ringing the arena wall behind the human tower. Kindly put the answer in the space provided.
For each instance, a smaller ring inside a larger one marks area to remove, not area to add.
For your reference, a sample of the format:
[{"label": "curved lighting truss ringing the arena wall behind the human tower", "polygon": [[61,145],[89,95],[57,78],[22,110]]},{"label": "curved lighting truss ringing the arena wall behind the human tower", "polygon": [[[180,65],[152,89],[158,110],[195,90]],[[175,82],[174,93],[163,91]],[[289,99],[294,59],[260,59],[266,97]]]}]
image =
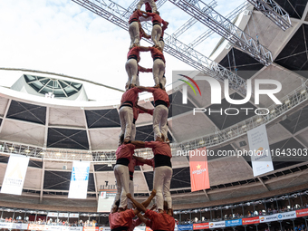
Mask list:
[{"label": "curved lighting truss ringing the arena wall behind the human tower", "polygon": [[[244,136],[248,130],[252,130],[262,124],[268,124],[282,118],[282,116],[304,105],[308,100],[308,80],[292,91],[291,93],[280,99],[281,105],[273,104],[263,111],[269,111],[265,115],[255,115],[247,120],[243,120],[225,130],[219,130],[215,134],[210,134],[194,140],[188,140],[181,143],[172,143],[171,151],[174,157],[178,156],[178,150],[188,151],[202,147],[215,148],[220,145],[226,145],[227,142]],[[262,109],[258,109],[262,110]],[[261,111],[259,111],[261,113]],[[82,151],[72,149],[42,149],[11,142],[0,142],[0,154],[10,155],[19,154],[34,159],[48,159],[54,161],[72,161],[84,160],[92,162],[102,162],[104,164],[114,164],[116,160],[115,150],[110,151]],[[135,154],[149,159],[153,157],[151,149],[136,149]]]}]

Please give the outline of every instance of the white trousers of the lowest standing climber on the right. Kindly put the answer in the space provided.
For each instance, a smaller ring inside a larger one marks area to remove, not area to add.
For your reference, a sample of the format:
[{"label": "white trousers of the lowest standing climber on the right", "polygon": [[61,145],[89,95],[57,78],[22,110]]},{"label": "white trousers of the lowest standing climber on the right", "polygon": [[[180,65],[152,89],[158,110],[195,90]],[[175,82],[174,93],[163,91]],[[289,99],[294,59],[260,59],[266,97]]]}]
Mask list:
[{"label": "white trousers of the lowest standing climber on the right", "polygon": [[153,188],[156,190],[156,205],[159,209],[164,209],[164,198],[168,203],[168,208],[172,208],[170,195],[171,178],[172,168],[161,166],[154,169]]}]

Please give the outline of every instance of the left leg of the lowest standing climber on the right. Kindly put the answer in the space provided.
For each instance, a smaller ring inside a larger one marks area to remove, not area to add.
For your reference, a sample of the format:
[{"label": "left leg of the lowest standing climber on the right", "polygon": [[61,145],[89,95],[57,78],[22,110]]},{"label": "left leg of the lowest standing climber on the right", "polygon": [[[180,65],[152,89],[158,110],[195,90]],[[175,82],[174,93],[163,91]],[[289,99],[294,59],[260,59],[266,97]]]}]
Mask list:
[{"label": "left leg of the lowest standing climber on the right", "polygon": [[154,169],[153,188],[156,190],[156,205],[159,209],[164,209],[164,197],[162,195],[164,185],[164,169],[158,167]]}]

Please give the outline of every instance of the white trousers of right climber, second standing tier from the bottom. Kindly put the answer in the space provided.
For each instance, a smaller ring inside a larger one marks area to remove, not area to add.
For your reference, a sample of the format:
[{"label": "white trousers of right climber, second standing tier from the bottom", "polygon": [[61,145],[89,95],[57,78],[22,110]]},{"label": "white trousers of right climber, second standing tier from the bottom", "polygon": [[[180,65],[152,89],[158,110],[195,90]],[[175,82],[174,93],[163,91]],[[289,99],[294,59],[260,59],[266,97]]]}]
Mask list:
[{"label": "white trousers of right climber, second standing tier from the bottom", "polygon": [[167,138],[168,126],[168,108],[165,105],[158,105],[153,111],[153,130],[154,140],[161,138],[161,133]]}]

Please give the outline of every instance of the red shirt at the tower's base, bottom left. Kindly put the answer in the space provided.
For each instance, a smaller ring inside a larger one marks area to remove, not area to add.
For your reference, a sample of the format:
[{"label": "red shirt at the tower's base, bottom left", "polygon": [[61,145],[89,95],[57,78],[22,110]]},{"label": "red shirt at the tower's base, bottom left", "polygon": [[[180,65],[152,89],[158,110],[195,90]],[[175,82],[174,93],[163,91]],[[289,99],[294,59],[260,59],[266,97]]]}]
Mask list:
[{"label": "red shirt at the tower's base, bottom left", "polygon": [[116,227],[130,227],[132,218],[135,217],[132,209],[125,210],[123,212],[117,212],[109,215],[109,224],[111,229]]}]

